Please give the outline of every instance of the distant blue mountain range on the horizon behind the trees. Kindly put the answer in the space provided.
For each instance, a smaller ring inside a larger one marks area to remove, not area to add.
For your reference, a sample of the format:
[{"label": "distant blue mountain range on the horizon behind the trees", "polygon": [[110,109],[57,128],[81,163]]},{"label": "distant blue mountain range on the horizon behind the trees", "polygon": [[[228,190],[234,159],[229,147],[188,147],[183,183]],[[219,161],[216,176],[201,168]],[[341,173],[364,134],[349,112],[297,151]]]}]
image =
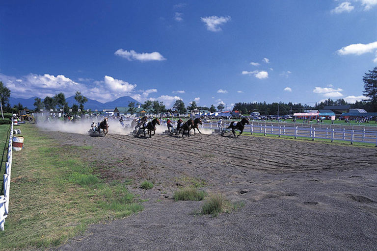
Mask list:
[{"label": "distant blue mountain range on the horizon behind the trees", "polygon": [[[38,97],[31,97],[29,99],[22,99],[22,98],[9,98],[9,103],[13,107],[14,105],[17,105],[18,103],[21,103],[24,107],[26,106],[28,109],[35,109],[34,107],[34,102],[35,98]],[[84,108],[85,109],[91,109],[91,110],[103,110],[103,109],[115,109],[115,107],[125,107],[128,106],[130,102],[135,102],[135,105],[137,105],[139,102],[137,100],[134,100],[130,96],[124,96],[120,97],[116,100],[113,101],[108,101],[106,103],[101,103],[97,100],[91,100],[87,98],[88,101],[84,103]],[[68,97],[65,99],[68,103],[68,105],[71,107],[74,103],[78,104],[78,102],[75,100],[75,96]],[[43,100],[42,100],[43,101]]]}]

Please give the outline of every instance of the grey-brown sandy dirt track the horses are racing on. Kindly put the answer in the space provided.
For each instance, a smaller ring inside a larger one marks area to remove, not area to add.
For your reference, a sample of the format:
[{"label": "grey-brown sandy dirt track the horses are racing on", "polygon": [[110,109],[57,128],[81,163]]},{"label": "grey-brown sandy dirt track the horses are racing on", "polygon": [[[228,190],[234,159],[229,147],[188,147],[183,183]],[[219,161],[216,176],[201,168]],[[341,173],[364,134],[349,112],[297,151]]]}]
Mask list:
[{"label": "grey-brown sandy dirt track the horses are racing on", "polygon": [[[93,146],[99,175],[132,180],[145,209],[88,227],[69,250],[377,250],[377,149],[268,137],[197,134],[136,138],[48,132],[61,144]],[[151,190],[137,185],[152,180]],[[197,215],[203,201],[172,200],[204,184],[241,209]]]}]

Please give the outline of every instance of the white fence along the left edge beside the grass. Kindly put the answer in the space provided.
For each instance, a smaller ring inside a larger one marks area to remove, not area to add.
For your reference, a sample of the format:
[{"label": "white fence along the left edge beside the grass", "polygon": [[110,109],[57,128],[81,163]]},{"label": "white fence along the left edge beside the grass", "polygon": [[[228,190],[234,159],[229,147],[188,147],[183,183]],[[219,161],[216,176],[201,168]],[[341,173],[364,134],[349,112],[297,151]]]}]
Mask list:
[{"label": "white fence along the left edge beside the grass", "polygon": [[10,173],[12,169],[12,142],[13,142],[13,120],[10,126],[8,153],[6,154],[5,174],[3,179],[4,195],[0,196],[0,229],[4,231],[5,218],[9,214],[9,190]]}]

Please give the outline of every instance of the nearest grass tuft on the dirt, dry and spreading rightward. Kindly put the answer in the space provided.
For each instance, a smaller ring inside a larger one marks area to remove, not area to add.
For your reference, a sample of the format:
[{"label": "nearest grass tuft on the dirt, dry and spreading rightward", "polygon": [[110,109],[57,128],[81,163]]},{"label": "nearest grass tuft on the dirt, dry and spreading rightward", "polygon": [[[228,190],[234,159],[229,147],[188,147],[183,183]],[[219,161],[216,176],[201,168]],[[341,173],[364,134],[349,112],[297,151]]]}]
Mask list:
[{"label": "nearest grass tuft on the dirt, dry and spreading rightward", "polygon": [[202,214],[211,214],[217,217],[220,213],[229,213],[232,210],[241,208],[244,202],[232,203],[228,201],[221,193],[210,194],[209,199],[202,206]]}]

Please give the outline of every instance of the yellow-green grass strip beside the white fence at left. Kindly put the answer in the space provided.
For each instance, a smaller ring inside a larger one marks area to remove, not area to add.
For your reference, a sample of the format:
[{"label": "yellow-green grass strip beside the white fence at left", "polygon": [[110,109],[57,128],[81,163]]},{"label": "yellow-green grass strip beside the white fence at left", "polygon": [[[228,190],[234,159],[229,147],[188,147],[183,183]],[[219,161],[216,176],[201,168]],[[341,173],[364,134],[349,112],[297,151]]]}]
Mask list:
[{"label": "yellow-green grass strip beside the white fence at left", "polygon": [[[142,210],[125,184],[105,183],[96,176],[97,163],[82,161],[91,146],[62,147],[33,125],[18,128],[24,149],[13,152],[10,214],[0,232],[0,250],[57,246],[89,224]],[[2,143],[6,132],[0,126]]]}]

